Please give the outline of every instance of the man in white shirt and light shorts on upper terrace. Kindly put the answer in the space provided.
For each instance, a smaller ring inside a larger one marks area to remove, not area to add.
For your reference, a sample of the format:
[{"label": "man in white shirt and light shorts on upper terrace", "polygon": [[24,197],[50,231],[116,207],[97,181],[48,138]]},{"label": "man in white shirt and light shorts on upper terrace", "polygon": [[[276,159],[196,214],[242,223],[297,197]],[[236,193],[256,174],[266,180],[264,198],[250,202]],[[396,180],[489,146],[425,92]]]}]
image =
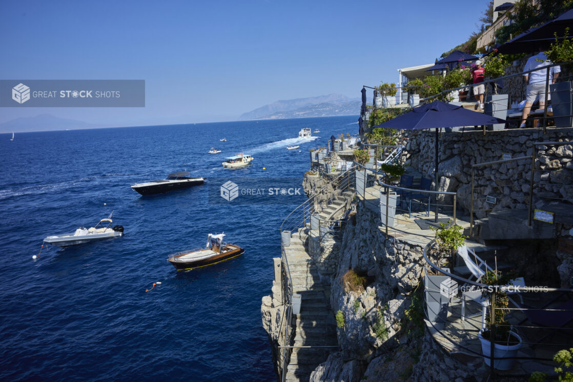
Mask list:
[{"label": "man in white shirt and light shorts on upper terrace", "polygon": [[[543,53],[543,49],[539,48],[539,53],[535,56],[529,57],[525,67],[524,72],[531,71],[535,68],[545,67],[551,65],[551,61],[547,59],[547,56]],[[555,83],[561,68],[559,66],[551,67],[549,69],[549,80],[552,84]],[[525,121],[531,111],[531,105],[535,102],[535,99],[539,97],[539,108],[543,109],[545,107],[545,79],[547,78],[547,69],[541,69],[539,71],[526,73],[523,75],[525,77],[525,82],[527,82],[527,98],[525,99],[525,106],[523,107],[523,113],[521,114],[521,125],[520,128],[525,127]]]}]

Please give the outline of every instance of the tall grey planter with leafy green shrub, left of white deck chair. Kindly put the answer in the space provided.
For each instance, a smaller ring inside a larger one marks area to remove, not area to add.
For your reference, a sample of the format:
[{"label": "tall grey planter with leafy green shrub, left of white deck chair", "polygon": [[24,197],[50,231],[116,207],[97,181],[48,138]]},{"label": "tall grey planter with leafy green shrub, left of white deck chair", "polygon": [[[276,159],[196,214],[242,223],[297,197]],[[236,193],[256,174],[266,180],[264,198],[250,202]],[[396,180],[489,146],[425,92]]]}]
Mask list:
[{"label": "tall grey planter with leafy green shrub, left of white deck chair", "polygon": [[[440,223],[440,228],[432,229],[435,231],[435,245],[430,249],[430,256],[438,267],[449,271],[450,264],[453,264],[452,255],[465,243],[466,237],[462,235],[463,228],[453,225],[452,221],[448,220],[448,223]],[[449,276],[426,268],[424,291],[428,319],[431,322],[446,322],[448,305],[453,291],[457,291],[457,283]]]}]

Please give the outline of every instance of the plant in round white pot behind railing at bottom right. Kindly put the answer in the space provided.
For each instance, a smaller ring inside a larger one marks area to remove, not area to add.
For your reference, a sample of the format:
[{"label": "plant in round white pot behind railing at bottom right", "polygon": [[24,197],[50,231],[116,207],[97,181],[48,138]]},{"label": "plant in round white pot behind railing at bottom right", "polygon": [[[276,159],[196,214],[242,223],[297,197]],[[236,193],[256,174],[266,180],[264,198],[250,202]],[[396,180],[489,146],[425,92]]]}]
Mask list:
[{"label": "plant in round white pot behind railing at bottom right", "polygon": [[[486,327],[480,330],[478,338],[481,342],[481,352],[484,354],[486,365],[491,364],[490,356],[493,341],[493,367],[498,370],[509,370],[513,366],[513,359],[521,348],[521,337],[512,332],[509,322],[505,321],[508,313],[509,299],[505,291],[499,288],[512,284],[512,276],[503,275],[500,271],[486,271],[481,282],[491,287],[482,290],[482,297],[489,300],[489,311],[486,314]],[[494,308],[492,314],[492,307]],[[493,316],[493,317],[492,317]]]}]

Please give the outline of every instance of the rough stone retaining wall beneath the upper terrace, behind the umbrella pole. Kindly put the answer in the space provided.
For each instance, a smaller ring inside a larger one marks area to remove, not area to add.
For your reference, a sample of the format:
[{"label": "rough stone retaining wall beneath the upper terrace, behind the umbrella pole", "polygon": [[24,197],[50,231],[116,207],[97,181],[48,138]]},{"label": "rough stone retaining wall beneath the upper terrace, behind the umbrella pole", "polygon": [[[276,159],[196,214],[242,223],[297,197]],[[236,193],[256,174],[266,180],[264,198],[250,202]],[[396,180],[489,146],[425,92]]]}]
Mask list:
[{"label": "rough stone retaining wall beneath the upper terrace, behind the umbrella pole", "polygon": [[[499,161],[503,154],[512,158],[531,156],[533,143],[542,141],[568,141],[573,137],[573,128],[548,128],[543,134],[541,128],[535,130],[469,130],[465,132],[442,132],[438,144],[439,190],[456,192],[458,207],[470,211],[472,202],[472,165]],[[571,145],[538,147],[536,166],[545,171],[536,171],[534,178],[534,203],[536,206],[547,203],[550,198],[573,200],[572,188],[562,185],[573,180]],[[435,132],[422,131],[410,134],[406,145],[406,165],[413,166],[423,176],[434,179]],[[478,218],[485,217],[486,211],[504,208],[527,208],[529,184],[531,180],[531,160],[523,159],[481,167],[476,176],[474,211]],[[544,188],[535,185],[543,181]],[[489,186],[489,187],[488,187]],[[496,204],[485,201],[485,196],[496,197]],[[451,203],[450,203],[451,204]]]}]

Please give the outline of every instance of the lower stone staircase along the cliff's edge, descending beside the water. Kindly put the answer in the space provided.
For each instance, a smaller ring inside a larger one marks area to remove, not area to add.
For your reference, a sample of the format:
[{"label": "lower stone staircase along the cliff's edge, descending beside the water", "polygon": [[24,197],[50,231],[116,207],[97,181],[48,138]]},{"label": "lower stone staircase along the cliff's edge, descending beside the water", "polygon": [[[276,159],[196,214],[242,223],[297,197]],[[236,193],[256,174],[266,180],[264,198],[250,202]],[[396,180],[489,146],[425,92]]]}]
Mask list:
[{"label": "lower stone staircase along the cliff's edge, descending beside the water", "polygon": [[[293,293],[302,296],[300,314],[293,326],[293,346],[337,345],[336,323],[329,307],[330,286],[323,284],[319,272],[308,255],[308,237],[301,228],[291,236],[285,247],[291,272]],[[294,318],[294,317],[293,317]],[[312,371],[337,348],[293,348],[286,367],[286,381],[308,381]]]}]

